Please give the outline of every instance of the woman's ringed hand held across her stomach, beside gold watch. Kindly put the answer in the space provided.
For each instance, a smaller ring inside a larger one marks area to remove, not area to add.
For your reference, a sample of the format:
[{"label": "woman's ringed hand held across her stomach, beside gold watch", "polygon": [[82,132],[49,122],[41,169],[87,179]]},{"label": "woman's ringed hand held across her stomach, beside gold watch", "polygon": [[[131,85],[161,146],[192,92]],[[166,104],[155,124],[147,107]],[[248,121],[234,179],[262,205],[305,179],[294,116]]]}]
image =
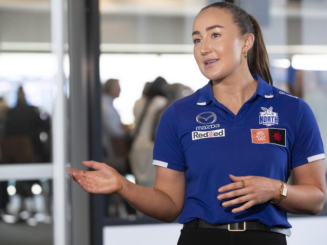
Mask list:
[{"label": "woman's ringed hand held across her stomach, beside gold watch", "polygon": [[[279,197],[280,181],[278,180],[262,176],[236,177],[229,175],[229,178],[233,183],[220,187],[218,192],[233,191],[219,194],[217,199],[223,200],[238,197],[222,203],[223,207],[244,203],[242,206],[232,209],[233,213],[244,211],[254,205],[265,203],[272,199],[277,200]],[[244,181],[244,188],[242,188],[241,180]]]}]

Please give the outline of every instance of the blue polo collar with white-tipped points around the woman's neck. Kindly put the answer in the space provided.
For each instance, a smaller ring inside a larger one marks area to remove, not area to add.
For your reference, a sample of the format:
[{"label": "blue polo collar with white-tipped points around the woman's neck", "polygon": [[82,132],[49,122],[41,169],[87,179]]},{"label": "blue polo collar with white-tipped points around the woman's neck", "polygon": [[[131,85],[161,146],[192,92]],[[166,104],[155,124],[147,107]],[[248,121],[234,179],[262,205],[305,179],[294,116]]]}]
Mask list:
[{"label": "blue polo collar with white-tipped points around the woman's neck", "polygon": [[[273,88],[269,85],[258,73],[252,73],[253,78],[258,80],[256,95],[260,95],[266,99],[274,97]],[[214,95],[212,91],[212,80],[208,82],[206,86],[200,89],[199,99],[197,101],[198,106],[206,106],[214,101]]]}]

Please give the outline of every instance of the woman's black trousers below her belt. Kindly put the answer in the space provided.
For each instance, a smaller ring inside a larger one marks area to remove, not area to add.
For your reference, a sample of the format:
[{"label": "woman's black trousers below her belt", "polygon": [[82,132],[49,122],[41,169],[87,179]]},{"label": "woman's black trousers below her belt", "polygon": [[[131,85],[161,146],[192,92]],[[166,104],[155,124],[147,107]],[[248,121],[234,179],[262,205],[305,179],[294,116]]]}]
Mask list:
[{"label": "woman's black trousers below her belt", "polygon": [[181,229],[177,245],[286,245],[284,234],[261,230],[228,231],[217,228]]}]

